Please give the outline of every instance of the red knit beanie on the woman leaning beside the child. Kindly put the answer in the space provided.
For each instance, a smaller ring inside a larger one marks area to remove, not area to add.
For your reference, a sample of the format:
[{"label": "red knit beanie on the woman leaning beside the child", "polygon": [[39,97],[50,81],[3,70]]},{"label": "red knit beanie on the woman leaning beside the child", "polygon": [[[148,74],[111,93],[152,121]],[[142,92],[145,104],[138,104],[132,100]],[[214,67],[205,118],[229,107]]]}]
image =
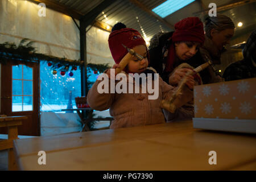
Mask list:
[{"label": "red knit beanie on the woman leaning beside the child", "polygon": [[197,17],[188,17],[180,20],[175,25],[172,34],[173,42],[199,42],[204,43],[204,25]]}]

